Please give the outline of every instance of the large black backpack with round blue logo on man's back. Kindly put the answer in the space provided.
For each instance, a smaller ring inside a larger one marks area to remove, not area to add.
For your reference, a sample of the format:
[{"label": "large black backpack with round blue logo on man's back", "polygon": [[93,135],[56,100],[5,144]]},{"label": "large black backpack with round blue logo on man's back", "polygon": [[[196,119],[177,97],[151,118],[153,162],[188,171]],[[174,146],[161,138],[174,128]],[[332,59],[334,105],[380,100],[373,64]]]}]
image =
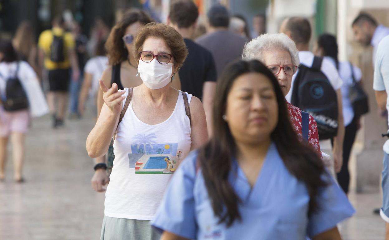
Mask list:
[{"label": "large black backpack with round blue logo on man's back", "polygon": [[338,100],[336,91],[321,72],[322,61],[323,58],[315,56],[312,67],[300,65],[291,99],[293,105],[314,117],[320,140],[338,133]]}]

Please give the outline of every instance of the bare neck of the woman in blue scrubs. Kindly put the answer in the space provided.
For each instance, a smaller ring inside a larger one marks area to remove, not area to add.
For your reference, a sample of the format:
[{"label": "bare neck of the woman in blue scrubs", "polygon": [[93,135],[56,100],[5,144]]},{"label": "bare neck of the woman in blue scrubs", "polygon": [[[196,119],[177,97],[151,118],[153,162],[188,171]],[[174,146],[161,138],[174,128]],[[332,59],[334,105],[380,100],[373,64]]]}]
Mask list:
[{"label": "bare neck of the woman in blue scrubs", "polygon": [[239,161],[264,161],[267,151],[272,143],[269,137],[266,140],[254,144],[237,142],[238,160]]}]

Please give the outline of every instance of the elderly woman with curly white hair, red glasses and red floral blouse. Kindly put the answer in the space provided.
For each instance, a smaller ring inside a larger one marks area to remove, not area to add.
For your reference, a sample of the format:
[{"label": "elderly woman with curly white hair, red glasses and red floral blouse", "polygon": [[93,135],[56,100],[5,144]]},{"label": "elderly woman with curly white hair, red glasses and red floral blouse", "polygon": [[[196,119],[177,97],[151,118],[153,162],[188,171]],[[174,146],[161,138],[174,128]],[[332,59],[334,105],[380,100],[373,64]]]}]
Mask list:
[{"label": "elderly woman with curly white hair, red glasses and red floral blouse", "polygon": [[[291,89],[292,77],[300,65],[296,44],[284,33],[263,34],[248,42],[243,50],[243,60],[257,59],[262,61],[277,78],[282,93],[287,95]],[[315,119],[287,103],[289,117],[300,140],[307,140],[321,155],[319,134]]]}]

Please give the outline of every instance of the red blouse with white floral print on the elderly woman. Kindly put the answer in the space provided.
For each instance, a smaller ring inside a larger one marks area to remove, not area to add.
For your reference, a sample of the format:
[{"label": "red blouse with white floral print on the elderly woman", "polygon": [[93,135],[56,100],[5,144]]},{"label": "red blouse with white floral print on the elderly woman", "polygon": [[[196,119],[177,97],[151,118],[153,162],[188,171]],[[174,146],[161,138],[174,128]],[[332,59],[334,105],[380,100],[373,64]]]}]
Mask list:
[{"label": "red blouse with white floral print on the elderly woman", "polygon": [[[292,122],[292,126],[294,131],[296,131],[298,138],[300,141],[303,140],[303,130],[301,127],[301,110],[292,105],[291,103],[288,104],[288,112],[289,112],[289,117]],[[319,145],[319,133],[317,132],[317,124],[315,119],[309,115],[309,131],[308,131],[308,144],[311,145],[314,150],[321,156],[321,151],[320,151],[320,145]]]}]

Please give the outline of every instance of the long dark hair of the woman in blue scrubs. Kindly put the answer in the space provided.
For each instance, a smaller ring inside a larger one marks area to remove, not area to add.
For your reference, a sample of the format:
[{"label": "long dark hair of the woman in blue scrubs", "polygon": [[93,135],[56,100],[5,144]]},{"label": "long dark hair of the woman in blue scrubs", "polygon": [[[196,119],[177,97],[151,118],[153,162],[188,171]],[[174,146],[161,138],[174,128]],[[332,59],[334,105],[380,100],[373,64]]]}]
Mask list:
[{"label": "long dark hair of the woman in blue scrubs", "polygon": [[214,214],[219,217],[220,223],[226,222],[227,226],[231,226],[236,219],[241,220],[241,215],[238,210],[240,199],[228,181],[237,148],[228,124],[223,120],[223,114],[233,82],[240,75],[250,72],[265,75],[273,85],[279,120],[271,138],[289,172],[307,187],[310,196],[308,215],[318,207],[315,197],[319,188],[326,186],[326,182],[321,179],[324,165],[314,150],[298,140],[291,126],[287,104],[277,79],[257,60],[237,61],[224,70],[217,82],[213,109],[214,135],[198,154]]}]

